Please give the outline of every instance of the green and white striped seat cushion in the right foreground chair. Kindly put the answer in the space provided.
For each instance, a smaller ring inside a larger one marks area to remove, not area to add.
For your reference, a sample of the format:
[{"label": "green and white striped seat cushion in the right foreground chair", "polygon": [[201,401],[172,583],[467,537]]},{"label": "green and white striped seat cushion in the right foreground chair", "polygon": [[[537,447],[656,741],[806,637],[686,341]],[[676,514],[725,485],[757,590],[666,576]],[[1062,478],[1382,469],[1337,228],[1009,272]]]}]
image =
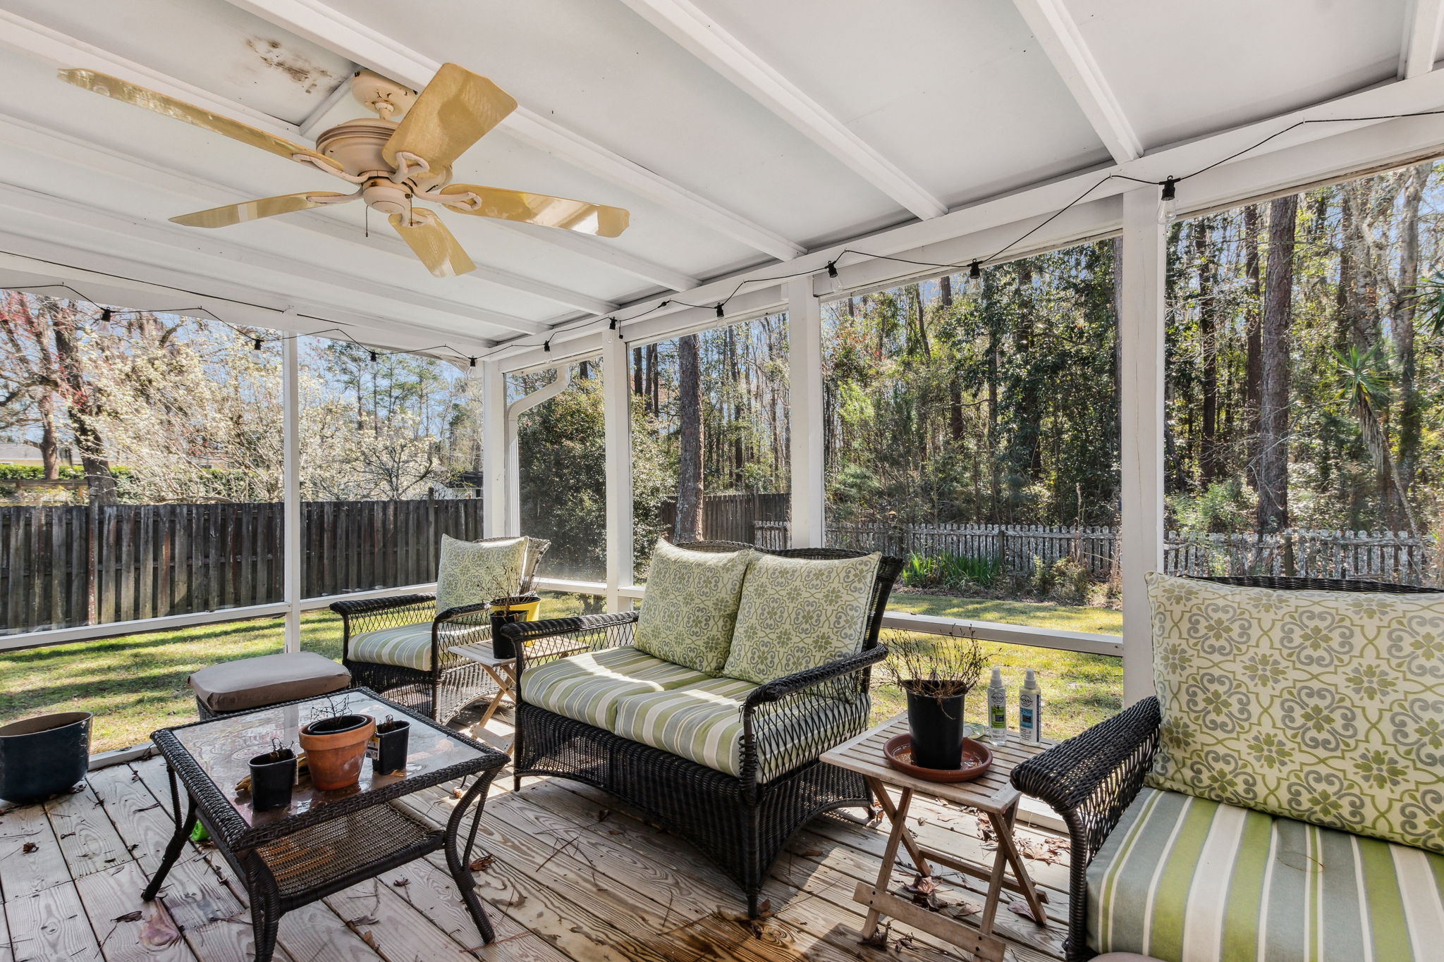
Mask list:
[{"label": "green and white striped seat cushion in the right foreground chair", "polygon": [[1087,868],[1089,945],[1164,962],[1444,958],[1444,855],[1144,789]]}]

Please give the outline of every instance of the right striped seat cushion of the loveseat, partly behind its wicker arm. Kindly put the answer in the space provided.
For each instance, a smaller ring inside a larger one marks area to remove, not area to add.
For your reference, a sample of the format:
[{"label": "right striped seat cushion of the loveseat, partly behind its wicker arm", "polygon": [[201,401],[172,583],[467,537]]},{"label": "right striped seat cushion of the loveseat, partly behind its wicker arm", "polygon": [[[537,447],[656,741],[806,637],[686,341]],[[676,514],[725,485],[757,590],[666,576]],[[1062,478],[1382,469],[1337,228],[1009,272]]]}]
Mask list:
[{"label": "right striped seat cushion of the loveseat, partly behind its wicker arm", "polygon": [[[671,691],[628,695],[617,704],[612,731],[683,759],[742,775],[742,702],[757,685],[736,678],[712,678]],[[810,710],[810,708],[814,708]],[[866,724],[866,695],[842,702],[804,697],[788,705],[780,727],[768,727],[760,751],[758,782],[770,782],[810,762]],[[787,750],[781,750],[787,746]]]}]

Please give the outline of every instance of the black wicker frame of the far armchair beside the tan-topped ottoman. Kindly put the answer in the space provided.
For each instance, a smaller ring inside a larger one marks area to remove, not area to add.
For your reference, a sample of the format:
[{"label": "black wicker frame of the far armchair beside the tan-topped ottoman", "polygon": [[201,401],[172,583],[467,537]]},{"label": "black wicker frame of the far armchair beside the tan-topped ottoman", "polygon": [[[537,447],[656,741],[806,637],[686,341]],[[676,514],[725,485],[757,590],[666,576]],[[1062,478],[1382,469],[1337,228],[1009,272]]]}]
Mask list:
[{"label": "black wicker frame of the far armchair beside the tan-topped ottoman", "polygon": [[[511,538],[487,538],[511,541]],[[485,544],[485,542],[482,542]],[[542,555],[550,541],[531,538],[521,581],[511,594],[527,594],[536,580]],[[331,610],[341,616],[341,663],[351,671],[351,684],[362,685],[436,721],[448,721],[468,704],[497,689],[491,675],[474,661],[453,655],[453,645],[477,645],[491,640],[488,612],[494,599],[478,600],[436,610],[435,594],[400,594],[388,599],[357,599],[332,601]],[[430,625],[430,669],[381,665],[351,656],[351,640],[367,632]]]}]

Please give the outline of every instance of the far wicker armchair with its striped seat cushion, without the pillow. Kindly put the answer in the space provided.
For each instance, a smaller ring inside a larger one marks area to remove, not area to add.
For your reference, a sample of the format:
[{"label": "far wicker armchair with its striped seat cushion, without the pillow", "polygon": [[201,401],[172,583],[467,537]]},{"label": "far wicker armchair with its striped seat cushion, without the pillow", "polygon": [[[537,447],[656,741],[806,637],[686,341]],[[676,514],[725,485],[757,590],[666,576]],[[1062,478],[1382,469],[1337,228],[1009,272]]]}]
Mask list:
[{"label": "far wicker armchair with its striped seat cushion, without the pillow", "polygon": [[[487,538],[475,545],[514,542]],[[529,538],[521,577],[514,588],[468,604],[436,610],[436,594],[399,594],[387,599],[332,601],[341,616],[341,663],[351,684],[400,701],[438,721],[451,720],[482,695],[495,691],[491,675],[477,662],[451,652],[453,645],[491,640],[492,601],[531,591],[537,565],[552,545]]]}]

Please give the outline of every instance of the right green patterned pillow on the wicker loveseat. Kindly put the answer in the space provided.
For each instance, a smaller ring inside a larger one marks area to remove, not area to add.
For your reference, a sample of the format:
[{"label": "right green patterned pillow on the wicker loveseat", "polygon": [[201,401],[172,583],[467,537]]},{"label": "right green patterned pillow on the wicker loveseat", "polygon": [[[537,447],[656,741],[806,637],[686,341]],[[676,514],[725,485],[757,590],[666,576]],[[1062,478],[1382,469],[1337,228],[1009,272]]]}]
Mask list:
[{"label": "right green patterned pillow on the wicker loveseat", "polygon": [[881,558],[752,558],[722,674],[762,685],[856,655]]}]

